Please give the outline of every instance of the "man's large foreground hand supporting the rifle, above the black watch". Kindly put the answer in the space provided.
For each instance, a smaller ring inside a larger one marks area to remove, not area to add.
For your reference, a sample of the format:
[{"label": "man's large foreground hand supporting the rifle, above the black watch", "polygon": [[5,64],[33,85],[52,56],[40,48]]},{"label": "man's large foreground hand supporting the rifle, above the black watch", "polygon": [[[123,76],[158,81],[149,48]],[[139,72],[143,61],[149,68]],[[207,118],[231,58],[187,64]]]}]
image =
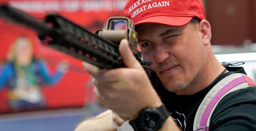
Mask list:
[{"label": "man's large foreground hand supporting the rifle, above the black watch", "polygon": [[98,100],[113,112],[134,119],[143,108],[159,107],[162,102],[127,40],[121,41],[119,53],[126,68],[99,69],[86,62],[83,66],[94,78]]}]

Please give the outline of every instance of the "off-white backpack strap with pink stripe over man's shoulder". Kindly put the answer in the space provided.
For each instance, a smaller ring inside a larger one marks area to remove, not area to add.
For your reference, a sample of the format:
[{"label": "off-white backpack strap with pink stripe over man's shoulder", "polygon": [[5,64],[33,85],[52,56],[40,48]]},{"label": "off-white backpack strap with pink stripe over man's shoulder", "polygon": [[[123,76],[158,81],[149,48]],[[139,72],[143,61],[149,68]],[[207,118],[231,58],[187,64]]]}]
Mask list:
[{"label": "off-white backpack strap with pink stripe over man's shoulder", "polygon": [[204,97],[195,114],[193,131],[209,131],[211,114],[218,102],[228,93],[256,86],[248,76],[240,73],[231,74],[219,81]]}]

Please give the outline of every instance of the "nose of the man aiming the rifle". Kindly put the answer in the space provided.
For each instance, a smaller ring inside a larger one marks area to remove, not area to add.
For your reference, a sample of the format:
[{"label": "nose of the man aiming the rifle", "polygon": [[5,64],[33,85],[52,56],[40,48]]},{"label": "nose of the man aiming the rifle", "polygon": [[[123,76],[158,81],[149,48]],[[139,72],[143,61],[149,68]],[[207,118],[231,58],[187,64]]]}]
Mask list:
[{"label": "nose of the man aiming the rifle", "polygon": [[170,54],[168,51],[164,48],[164,46],[159,46],[156,48],[156,62],[162,63],[164,60],[168,59],[170,57]]}]

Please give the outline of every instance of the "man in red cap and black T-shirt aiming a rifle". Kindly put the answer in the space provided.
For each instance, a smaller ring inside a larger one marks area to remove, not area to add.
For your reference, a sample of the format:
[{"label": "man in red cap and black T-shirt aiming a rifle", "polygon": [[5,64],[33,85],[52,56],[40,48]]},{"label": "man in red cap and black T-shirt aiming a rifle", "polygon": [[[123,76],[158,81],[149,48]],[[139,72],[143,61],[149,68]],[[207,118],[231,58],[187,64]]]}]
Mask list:
[{"label": "man in red cap and black T-shirt aiming a rifle", "polygon": [[[106,70],[83,63],[94,78],[95,95],[111,110],[82,122],[76,129],[116,130],[127,117],[138,131],[191,131],[206,94],[221,79],[244,70],[227,67],[228,72],[215,58],[211,27],[201,0],[129,0],[124,13],[135,22],[142,57],[153,62],[147,68],[156,73],[163,87],[154,90],[128,42],[122,40],[119,52],[126,68]],[[221,99],[209,130],[255,130],[254,90],[254,86],[247,87]],[[163,103],[170,116],[166,116]]]}]

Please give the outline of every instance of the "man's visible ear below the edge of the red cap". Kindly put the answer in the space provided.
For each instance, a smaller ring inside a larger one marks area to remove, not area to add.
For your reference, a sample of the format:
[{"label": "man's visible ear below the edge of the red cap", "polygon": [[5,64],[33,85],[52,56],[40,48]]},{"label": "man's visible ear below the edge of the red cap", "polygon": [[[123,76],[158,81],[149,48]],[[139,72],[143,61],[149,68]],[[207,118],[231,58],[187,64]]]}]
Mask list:
[{"label": "man's visible ear below the edge of the red cap", "polygon": [[200,36],[204,42],[204,45],[210,44],[211,40],[211,25],[207,20],[201,20],[198,24]]}]

